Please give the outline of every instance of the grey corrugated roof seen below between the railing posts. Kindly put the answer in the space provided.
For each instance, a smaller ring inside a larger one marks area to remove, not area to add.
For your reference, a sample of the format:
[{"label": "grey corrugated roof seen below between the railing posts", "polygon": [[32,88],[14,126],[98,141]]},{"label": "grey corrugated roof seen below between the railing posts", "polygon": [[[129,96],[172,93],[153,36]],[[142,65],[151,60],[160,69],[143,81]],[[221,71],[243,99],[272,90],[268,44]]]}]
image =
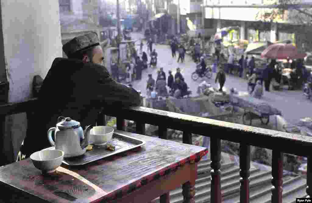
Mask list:
[{"label": "grey corrugated roof seen below between the railing posts", "polygon": [[[195,202],[210,202],[210,160],[202,160],[198,164],[198,177],[195,188]],[[221,190],[224,203],[239,203],[239,166],[234,162],[222,163]],[[250,202],[271,202],[271,170],[250,169]],[[296,198],[306,196],[306,179],[298,176],[284,176],[283,203],[295,202]],[[159,198],[152,201],[159,203]],[[170,203],[183,203],[182,186],[170,191]]]}]

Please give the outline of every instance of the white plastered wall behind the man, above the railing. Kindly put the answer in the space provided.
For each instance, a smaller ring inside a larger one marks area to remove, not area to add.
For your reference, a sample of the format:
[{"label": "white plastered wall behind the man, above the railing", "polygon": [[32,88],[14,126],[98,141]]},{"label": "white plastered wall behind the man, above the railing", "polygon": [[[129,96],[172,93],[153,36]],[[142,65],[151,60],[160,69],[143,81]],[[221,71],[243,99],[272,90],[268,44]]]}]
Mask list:
[{"label": "white plastered wall behind the man, above the railing", "polygon": [[2,29],[9,102],[31,94],[33,76],[46,76],[53,59],[62,56],[57,0],[2,0]]}]

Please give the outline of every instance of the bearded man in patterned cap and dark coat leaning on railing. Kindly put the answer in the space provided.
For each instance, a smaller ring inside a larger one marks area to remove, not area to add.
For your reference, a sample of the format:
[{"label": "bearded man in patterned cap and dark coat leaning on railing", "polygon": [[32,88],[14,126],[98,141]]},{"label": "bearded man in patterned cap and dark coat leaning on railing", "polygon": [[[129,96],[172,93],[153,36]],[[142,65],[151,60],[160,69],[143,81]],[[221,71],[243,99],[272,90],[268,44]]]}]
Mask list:
[{"label": "bearded man in patterned cap and dark coat leaning on railing", "polygon": [[28,118],[21,153],[29,157],[50,147],[47,131],[59,116],[79,121],[82,128],[95,124],[100,111],[138,106],[139,93],[117,83],[103,66],[103,51],[95,32],[75,37],[63,45],[69,59],[54,59],[38,96],[32,118]]}]

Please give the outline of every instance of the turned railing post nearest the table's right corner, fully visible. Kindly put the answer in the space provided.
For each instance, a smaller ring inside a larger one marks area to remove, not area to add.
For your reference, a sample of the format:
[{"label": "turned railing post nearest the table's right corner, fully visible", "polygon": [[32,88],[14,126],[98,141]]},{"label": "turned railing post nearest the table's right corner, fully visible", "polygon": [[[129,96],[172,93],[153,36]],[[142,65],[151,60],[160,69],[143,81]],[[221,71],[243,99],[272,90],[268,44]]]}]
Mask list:
[{"label": "turned railing post nearest the table's right corner, fully visible", "polygon": [[211,200],[213,203],[221,203],[221,140],[217,138],[210,138],[210,157],[212,168],[211,174]]}]

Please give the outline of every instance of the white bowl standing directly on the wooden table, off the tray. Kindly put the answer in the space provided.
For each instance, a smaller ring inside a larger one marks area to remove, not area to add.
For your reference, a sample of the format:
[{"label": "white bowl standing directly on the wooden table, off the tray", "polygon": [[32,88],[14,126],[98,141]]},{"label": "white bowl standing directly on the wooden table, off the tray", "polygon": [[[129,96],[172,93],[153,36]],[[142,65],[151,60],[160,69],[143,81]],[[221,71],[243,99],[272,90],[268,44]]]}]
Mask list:
[{"label": "white bowl standing directly on the wooden table, off the tray", "polygon": [[42,150],[30,155],[30,159],[36,168],[43,173],[51,173],[61,166],[64,152],[57,149]]}]

